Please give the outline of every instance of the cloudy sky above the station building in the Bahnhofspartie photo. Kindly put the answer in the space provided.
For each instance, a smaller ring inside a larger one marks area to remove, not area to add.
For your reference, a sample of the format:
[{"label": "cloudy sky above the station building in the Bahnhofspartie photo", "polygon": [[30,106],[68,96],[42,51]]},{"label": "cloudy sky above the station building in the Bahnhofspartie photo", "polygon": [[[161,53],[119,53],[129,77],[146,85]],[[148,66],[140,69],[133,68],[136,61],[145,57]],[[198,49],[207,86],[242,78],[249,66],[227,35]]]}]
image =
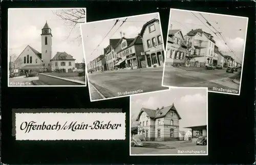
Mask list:
[{"label": "cloudy sky above the station building in the Bahnhofspartie photo", "polygon": [[184,127],[207,125],[206,88],[173,88],[131,96],[132,125],[136,125],[136,117],[142,106],[156,109],[157,107],[170,106],[173,103],[181,116],[180,131],[188,130]]}]

